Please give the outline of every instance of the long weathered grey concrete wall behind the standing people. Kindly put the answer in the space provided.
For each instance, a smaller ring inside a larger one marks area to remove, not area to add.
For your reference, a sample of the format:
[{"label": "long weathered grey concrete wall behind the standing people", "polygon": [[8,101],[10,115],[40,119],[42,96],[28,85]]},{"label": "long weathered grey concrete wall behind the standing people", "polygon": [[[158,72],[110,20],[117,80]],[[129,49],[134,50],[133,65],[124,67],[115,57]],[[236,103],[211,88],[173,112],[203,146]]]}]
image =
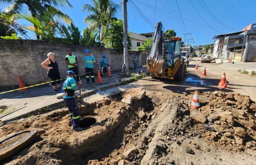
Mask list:
[{"label": "long weathered grey concrete wall behind the standing people", "polygon": [[[71,49],[79,61],[80,73],[85,73],[84,50],[89,49],[96,59],[95,73],[101,70],[102,54],[106,54],[107,62],[111,71],[119,71],[123,63],[123,53],[114,49],[69,45],[62,43],[52,43],[37,40],[0,40],[0,90],[4,87],[18,85],[17,76],[21,76],[26,85],[35,85],[50,81],[47,77],[47,69],[40,64],[47,58],[48,52],[53,52],[58,62],[61,78],[66,77],[68,65],[65,63],[66,50]],[[129,67],[132,68],[132,58],[134,54],[138,56],[138,66],[141,66],[141,52],[129,52]]]}]

